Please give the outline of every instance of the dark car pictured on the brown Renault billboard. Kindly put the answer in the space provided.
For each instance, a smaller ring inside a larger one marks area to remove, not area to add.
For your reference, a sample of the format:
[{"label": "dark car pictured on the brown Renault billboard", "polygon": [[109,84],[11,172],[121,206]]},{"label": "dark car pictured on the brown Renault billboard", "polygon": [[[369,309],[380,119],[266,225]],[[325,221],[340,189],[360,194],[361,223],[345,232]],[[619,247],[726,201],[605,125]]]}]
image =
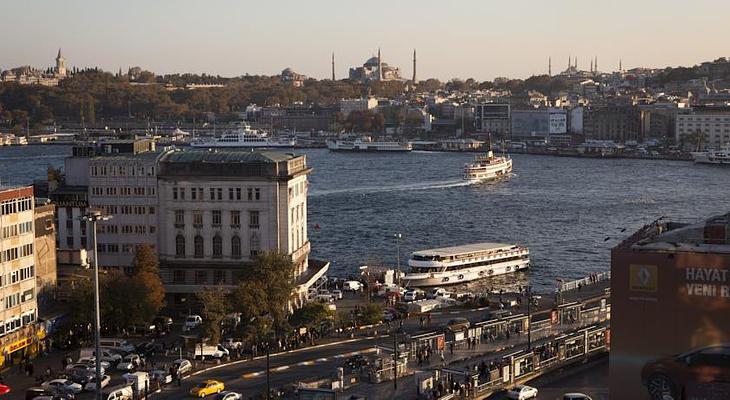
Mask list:
[{"label": "dark car pictured on the brown Renault billboard", "polygon": [[652,400],[730,399],[730,344],[652,361],[642,369],[641,380]]}]

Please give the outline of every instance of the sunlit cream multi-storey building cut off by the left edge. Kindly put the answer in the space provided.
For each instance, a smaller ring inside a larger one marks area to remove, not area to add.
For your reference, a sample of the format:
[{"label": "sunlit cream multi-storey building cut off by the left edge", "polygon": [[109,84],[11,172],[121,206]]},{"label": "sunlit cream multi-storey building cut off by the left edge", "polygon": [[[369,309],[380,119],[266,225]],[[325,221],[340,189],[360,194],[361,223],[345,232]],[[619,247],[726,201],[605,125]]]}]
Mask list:
[{"label": "sunlit cream multi-storey building cut off by the left edge", "polygon": [[0,368],[39,351],[33,187],[0,189]]}]

